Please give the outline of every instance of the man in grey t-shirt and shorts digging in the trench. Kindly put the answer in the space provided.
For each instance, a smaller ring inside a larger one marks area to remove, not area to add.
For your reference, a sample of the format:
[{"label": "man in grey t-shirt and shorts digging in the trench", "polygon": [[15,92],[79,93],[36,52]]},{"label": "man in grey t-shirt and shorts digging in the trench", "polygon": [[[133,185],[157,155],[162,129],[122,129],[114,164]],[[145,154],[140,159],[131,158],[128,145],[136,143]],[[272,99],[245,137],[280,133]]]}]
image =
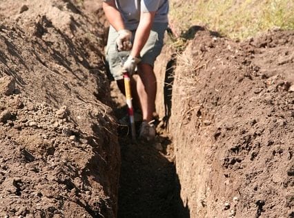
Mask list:
[{"label": "man in grey t-shirt and shorts digging in the trench", "polygon": [[[110,73],[123,93],[123,73],[137,73],[131,84],[134,105],[139,105],[143,118],[139,138],[153,140],[157,92],[153,68],[168,26],[168,0],[103,0],[103,9],[110,23],[106,46]],[[127,57],[122,68],[121,52]]]}]

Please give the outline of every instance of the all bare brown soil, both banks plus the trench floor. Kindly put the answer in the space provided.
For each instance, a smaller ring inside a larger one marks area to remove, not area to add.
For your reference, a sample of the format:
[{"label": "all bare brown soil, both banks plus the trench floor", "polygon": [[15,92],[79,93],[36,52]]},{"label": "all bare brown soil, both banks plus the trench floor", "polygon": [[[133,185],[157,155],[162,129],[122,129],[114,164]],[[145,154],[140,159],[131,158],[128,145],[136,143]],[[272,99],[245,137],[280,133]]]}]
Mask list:
[{"label": "all bare brown soil, both banks plus the trench floor", "polygon": [[132,143],[101,2],[80,3],[1,1],[0,217],[294,217],[294,33],[191,27],[157,60],[155,142]]}]

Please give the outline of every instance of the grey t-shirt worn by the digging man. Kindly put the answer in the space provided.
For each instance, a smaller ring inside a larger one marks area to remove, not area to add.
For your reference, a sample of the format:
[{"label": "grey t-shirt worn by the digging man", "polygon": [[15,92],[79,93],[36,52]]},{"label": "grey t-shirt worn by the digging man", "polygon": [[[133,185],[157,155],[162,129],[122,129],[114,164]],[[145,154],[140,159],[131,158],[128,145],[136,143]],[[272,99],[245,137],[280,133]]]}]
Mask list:
[{"label": "grey t-shirt worn by the digging man", "polygon": [[[103,0],[111,1],[111,0]],[[126,28],[134,30],[140,19],[140,12],[156,11],[154,22],[168,22],[168,0],[115,0]]]}]

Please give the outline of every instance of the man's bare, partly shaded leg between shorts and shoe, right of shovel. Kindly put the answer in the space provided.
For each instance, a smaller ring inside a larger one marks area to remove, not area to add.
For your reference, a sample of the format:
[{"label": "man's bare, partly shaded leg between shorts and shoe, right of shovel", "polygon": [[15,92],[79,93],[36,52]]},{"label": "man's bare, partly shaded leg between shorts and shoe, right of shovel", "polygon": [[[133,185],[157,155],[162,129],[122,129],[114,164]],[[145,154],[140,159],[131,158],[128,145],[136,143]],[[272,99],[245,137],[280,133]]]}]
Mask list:
[{"label": "man's bare, partly shaded leg between shorts and shoe, right of shovel", "polygon": [[153,66],[150,66],[150,64],[139,64],[138,73],[137,93],[141,104],[143,120],[150,122],[153,120],[157,91],[156,77],[153,71]]}]

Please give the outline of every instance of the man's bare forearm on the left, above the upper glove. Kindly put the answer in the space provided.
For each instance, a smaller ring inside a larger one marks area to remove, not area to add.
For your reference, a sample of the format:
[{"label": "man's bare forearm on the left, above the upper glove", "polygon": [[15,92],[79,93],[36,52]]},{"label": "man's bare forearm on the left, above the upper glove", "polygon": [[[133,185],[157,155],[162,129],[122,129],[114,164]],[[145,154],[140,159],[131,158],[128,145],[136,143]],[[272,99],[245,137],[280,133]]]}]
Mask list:
[{"label": "man's bare forearm on the left, above the upper glove", "polygon": [[106,15],[106,19],[109,21],[110,25],[115,28],[115,30],[123,30],[124,21],[121,17],[119,10],[117,10],[117,6],[115,6],[115,0],[112,1],[104,1],[102,3],[102,7],[104,13]]}]

